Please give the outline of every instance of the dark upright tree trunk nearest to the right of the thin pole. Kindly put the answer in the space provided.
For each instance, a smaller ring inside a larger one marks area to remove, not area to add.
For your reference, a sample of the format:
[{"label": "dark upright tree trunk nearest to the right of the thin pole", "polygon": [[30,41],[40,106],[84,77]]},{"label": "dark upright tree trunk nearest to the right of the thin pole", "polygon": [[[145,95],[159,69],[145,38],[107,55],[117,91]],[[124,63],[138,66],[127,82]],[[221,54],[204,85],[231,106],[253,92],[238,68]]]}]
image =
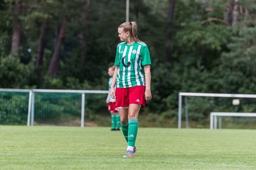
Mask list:
[{"label": "dark upright tree trunk nearest to the right of the thin pole", "polygon": [[[169,0],[169,8],[167,15],[167,28],[166,28],[166,38],[168,41],[171,40],[171,24],[174,21],[174,8],[175,8],[175,0]],[[169,47],[166,47],[166,58],[165,61],[167,63],[171,62],[171,50]]]}]

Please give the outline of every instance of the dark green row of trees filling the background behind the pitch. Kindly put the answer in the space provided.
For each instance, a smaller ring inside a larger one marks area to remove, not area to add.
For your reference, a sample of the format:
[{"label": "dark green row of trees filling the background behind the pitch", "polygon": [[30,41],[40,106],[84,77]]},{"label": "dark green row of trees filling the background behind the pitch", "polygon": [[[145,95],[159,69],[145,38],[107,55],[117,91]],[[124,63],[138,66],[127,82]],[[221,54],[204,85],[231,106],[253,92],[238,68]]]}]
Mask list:
[{"label": "dark green row of trees filling the background behind the pitch", "polygon": [[[254,93],[255,0],[130,4],[153,61],[146,112],[176,115],[179,91]],[[107,89],[125,7],[119,0],[1,0],[0,87]]]}]

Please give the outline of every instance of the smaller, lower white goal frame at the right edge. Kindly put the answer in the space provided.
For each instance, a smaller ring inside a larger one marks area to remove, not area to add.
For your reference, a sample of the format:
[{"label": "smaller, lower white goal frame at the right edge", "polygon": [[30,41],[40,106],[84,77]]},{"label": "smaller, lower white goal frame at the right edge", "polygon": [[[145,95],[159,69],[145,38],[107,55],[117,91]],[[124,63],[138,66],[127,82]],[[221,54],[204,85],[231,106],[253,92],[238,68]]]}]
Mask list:
[{"label": "smaller, lower white goal frame at the right edge", "polygon": [[210,129],[217,129],[217,116],[235,116],[235,117],[256,117],[256,113],[233,113],[233,112],[211,112],[210,113]]}]

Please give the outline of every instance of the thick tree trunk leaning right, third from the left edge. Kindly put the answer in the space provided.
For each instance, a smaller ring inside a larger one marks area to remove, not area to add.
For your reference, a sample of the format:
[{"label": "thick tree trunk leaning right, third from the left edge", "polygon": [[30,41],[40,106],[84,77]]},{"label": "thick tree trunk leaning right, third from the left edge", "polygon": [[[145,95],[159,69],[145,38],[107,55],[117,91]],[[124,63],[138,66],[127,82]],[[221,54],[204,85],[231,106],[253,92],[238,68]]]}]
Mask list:
[{"label": "thick tree trunk leaning right, third from the left edge", "polygon": [[64,20],[60,28],[60,33],[58,35],[58,38],[55,42],[53,57],[50,60],[50,66],[47,72],[49,76],[55,76],[58,72],[58,68],[60,65],[60,50],[61,50],[61,45],[63,44],[63,40],[65,38],[66,24],[67,24],[67,21]]}]

